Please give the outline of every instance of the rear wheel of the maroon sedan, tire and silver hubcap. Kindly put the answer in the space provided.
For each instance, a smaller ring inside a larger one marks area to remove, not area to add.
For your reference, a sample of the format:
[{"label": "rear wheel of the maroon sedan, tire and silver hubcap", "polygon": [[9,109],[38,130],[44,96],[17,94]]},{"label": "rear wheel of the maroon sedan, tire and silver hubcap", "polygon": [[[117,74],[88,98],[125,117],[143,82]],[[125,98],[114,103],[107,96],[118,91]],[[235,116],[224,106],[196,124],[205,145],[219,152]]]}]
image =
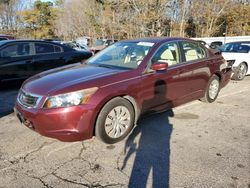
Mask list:
[{"label": "rear wheel of the maroon sedan, tire and silver hubcap", "polygon": [[218,76],[213,75],[208,82],[205,96],[200,99],[202,102],[212,103],[218,97],[220,92],[220,79]]}]

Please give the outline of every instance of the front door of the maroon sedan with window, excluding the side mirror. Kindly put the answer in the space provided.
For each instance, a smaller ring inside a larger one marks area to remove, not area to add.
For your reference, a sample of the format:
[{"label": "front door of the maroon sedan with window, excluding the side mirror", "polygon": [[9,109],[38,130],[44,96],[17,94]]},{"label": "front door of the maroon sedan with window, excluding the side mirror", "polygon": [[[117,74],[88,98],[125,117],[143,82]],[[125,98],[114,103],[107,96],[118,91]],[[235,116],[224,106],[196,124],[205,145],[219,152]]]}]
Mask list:
[{"label": "front door of the maroon sedan with window, excluding the side mirror", "polygon": [[151,71],[148,67],[142,76],[142,91],[145,101],[142,109],[163,110],[182,103],[188,94],[187,83],[191,72],[182,64],[180,49],[177,42],[168,42],[156,51],[151,58],[153,63],[168,63],[164,71]]}]

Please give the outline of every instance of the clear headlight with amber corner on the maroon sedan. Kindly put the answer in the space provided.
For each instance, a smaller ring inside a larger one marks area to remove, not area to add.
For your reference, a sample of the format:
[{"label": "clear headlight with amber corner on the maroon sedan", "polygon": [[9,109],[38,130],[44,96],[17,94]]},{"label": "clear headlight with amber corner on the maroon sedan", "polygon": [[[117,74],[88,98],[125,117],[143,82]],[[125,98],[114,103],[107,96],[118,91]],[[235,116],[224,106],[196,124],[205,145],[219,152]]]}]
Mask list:
[{"label": "clear headlight with amber corner on the maroon sedan", "polygon": [[44,108],[59,108],[85,104],[97,91],[97,87],[48,97]]}]

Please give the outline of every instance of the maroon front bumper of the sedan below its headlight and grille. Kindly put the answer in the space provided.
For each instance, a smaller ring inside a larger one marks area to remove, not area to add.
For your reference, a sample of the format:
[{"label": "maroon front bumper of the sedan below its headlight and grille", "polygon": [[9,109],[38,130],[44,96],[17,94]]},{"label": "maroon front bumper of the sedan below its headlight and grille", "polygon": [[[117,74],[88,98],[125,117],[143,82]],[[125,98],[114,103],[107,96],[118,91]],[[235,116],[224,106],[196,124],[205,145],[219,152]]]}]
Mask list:
[{"label": "maroon front bumper of the sedan below its headlight and grille", "polygon": [[23,125],[46,137],[73,142],[93,136],[96,116],[93,105],[29,109],[16,103],[15,112]]}]

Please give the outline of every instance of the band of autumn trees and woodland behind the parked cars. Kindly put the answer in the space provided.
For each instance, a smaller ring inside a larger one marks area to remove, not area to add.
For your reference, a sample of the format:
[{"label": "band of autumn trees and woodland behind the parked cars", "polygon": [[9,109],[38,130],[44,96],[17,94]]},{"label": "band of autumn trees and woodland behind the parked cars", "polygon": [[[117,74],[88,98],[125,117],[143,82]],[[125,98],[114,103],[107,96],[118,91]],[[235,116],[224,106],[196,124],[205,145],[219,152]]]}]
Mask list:
[{"label": "band of autumn trees and woodland behind the parked cars", "polygon": [[0,0],[0,33],[63,40],[250,35],[250,1]]}]

